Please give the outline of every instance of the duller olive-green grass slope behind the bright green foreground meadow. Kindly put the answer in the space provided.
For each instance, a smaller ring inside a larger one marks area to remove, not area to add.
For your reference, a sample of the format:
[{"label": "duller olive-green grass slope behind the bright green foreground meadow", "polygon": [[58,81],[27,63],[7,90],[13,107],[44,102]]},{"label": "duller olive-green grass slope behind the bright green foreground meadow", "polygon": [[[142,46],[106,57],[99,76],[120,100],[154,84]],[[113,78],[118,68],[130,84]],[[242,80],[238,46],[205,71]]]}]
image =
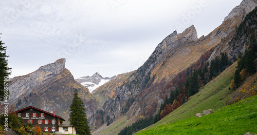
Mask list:
[{"label": "duller olive-green grass slope behind the bright green foreground meadow", "polygon": [[198,93],[190,97],[190,100],[164,117],[162,120],[145,129],[150,129],[163,124],[194,117],[196,113],[206,109],[219,109],[225,106],[225,100],[230,93],[228,90],[235,71],[236,63],[232,64],[225,71],[209,82]]}]

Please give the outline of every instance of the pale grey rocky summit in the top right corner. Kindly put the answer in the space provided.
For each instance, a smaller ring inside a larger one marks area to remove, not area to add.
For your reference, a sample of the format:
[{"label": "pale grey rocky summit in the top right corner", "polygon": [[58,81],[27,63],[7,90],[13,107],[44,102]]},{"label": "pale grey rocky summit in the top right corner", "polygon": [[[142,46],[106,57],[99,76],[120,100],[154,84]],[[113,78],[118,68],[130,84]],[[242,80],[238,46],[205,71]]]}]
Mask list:
[{"label": "pale grey rocky summit in the top right corner", "polygon": [[244,0],[239,6],[236,6],[229,14],[225,17],[224,21],[227,21],[234,16],[243,15],[243,18],[246,14],[252,11],[257,6],[257,0]]}]

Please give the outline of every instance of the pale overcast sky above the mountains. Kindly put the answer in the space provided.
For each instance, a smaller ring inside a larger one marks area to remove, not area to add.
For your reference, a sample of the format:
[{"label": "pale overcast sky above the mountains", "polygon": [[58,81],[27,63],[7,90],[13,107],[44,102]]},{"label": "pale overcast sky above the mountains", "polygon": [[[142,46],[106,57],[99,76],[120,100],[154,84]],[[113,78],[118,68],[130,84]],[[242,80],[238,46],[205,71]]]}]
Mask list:
[{"label": "pale overcast sky above the mountains", "polygon": [[74,77],[139,68],[169,34],[194,25],[198,37],[241,0],[2,1],[0,35],[11,78],[66,58]]}]

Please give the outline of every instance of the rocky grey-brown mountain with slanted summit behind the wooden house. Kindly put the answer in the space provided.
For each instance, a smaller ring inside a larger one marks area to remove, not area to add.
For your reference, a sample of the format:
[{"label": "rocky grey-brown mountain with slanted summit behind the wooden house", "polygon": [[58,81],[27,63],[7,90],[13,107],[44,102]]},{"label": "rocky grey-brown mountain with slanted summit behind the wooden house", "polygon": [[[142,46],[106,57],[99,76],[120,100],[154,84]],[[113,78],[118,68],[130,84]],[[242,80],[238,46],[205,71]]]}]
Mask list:
[{"label": "rocky grey-brown mountain with slanted summit behind the wooden house", "polygon": [[74,90],[78,89],[90,117],[96,110],[96,97],[78,82],[65,68],[65,59],[40,67],[38,70],[24,76],[15,77],[9,85],[10,101],[15,109],[34,106],[46,111],[54,110],[68,120],[69,106]]}]

